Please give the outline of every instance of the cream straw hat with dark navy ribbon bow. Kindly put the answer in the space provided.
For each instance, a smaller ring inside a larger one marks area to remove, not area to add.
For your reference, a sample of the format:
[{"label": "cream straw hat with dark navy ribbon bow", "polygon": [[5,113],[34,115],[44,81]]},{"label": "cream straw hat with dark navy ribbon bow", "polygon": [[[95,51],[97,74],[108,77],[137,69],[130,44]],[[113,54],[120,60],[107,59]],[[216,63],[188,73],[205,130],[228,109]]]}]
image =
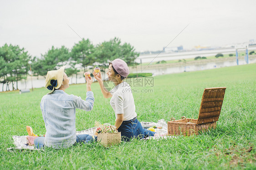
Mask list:
[{"label": "cream straw hat with dark navy ribbon bow", "polygon": [[62,66],[59,70],[51,70],[46,75],[46,85],[48,90],[51,90],[47,94],[51,94],[55,89],[59,89],[62,85],[64,69],[66,65]]}]

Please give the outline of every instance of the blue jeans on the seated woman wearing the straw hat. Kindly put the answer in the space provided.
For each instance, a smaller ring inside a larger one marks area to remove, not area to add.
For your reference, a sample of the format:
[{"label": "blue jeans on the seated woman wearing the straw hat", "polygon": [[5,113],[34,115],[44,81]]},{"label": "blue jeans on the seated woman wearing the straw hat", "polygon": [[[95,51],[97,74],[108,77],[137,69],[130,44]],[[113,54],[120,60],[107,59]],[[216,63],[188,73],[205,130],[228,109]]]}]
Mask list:
[{"label": "blue jeans on the seated woman wearing the straw hat", "polygon": [[[76,145],[77,143],[88,143],[88,142],[92,142],[92,136],[91,135],[77,135],[77,141],[74,143],[74,145]],[[44,143],[45,143],[45,137],[44,136],[40,136],[38,138],[36,138],[34,140],[34,145],[36,146],[37,149],[41,149],[44,147]]]}]

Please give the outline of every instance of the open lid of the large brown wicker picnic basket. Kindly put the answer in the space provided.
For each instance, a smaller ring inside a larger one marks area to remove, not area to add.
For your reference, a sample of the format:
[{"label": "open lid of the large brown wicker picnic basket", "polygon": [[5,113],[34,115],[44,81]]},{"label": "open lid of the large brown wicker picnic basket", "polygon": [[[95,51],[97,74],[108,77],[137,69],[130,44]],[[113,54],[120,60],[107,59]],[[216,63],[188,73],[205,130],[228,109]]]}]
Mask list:
[{"label": "open lid of the large brown wicker picnic basket", "polygon": [[225,90],[226,87],[205,89],[201,101],[197,124],[210,123],[219,120]]}]

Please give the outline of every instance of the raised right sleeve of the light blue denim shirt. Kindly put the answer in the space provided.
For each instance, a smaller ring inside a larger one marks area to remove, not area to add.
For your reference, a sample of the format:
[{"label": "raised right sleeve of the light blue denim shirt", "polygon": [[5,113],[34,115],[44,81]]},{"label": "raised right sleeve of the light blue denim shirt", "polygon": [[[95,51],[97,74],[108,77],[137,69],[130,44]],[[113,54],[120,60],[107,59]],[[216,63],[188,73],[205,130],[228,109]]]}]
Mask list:
[{"label": "raised right sleeve of the light blue denim shirt", "polygon": [[93,109],[94,97],[92,91],[87,91],[86,100],[82,100],[81,97],[73,95],[73,105],[75,108],[91,111]]}]

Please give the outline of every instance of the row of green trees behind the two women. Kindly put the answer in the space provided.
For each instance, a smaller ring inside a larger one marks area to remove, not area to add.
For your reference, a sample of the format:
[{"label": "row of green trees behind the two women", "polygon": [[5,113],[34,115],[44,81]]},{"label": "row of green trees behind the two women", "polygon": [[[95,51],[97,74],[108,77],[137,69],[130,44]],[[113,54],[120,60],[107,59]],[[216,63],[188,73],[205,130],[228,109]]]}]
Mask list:
[{"label": "row of green trees behind the two women", "polygon": [[[93,45],[87,39],[82,39],[76,43],[72,49],[65,46],[61,48],[51,47],[40,58],[32,57],[24,48],[19,45],[3,45],[0,47],[0,83],[6,84],[6,91],[18,90],[18,81],[27,78],[30,66],[32,75],[46,76],[47,71],[59,69],[62,65],[67,65],[65,72],[68,76],[76,75],[80,70],[87,71],[88,66],[99,66],[104,72],[108,68],[108,62],[120,58],[127,62],[129,66],[137,65],[135,59],[139,53],[129,43],[121,44],[119,38],[104,41]],[[29,64],[31,61],[31,65]],[[16,87],[14,87],[16,82]]]}]

